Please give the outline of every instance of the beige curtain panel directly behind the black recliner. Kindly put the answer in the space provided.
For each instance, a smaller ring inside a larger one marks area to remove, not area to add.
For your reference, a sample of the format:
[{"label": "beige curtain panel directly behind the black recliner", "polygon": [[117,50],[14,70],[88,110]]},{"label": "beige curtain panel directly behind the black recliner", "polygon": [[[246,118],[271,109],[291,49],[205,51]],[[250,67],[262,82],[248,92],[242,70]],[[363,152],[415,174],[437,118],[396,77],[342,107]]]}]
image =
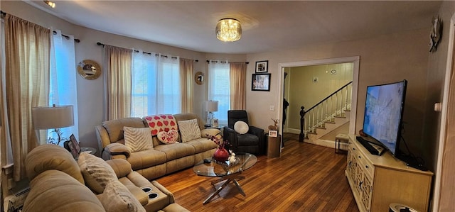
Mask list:
[{"label": "beige curtain panel directly behind the black recliner", "polygon": [[230,62],[230,108],[245,110],[247,65],[245,62]]}]

